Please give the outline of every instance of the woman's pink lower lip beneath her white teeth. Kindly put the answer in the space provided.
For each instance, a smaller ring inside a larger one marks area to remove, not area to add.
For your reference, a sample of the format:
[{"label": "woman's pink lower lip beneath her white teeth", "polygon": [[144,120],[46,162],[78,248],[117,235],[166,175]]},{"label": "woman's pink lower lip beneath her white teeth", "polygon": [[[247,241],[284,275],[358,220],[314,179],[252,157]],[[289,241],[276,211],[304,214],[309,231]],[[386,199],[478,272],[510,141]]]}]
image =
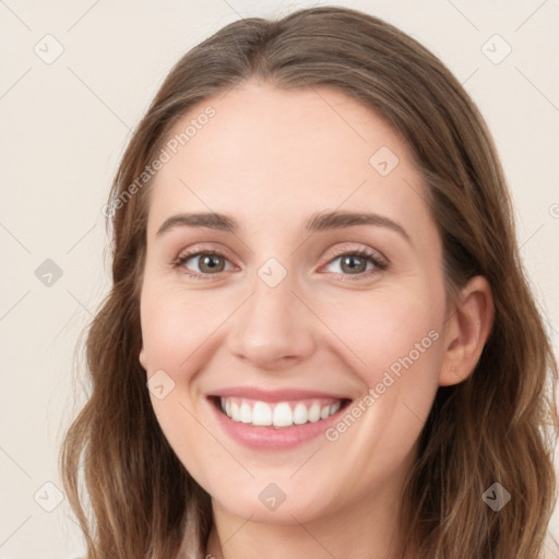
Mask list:
[{"label": "woman's pink lower lip beneath her white teeth", "polygon": [[321,435],[338,420],[338,415],[347,406],[343,406],[334,415],[314,423],[294,425],[293,427],[261,427],[234,421],[210,402],[212,409],[217,415],[217,420],[231,439],[249,447],[260,450],[289,450],[295,449],[307,441]]}]

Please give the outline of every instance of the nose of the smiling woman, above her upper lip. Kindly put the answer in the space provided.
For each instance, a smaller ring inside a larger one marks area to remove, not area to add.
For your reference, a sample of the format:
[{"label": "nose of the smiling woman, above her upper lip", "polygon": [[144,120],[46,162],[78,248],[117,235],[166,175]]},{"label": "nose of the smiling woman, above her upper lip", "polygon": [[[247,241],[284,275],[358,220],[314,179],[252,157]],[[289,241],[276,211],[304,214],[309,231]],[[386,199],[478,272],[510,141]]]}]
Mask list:
[{"label": "nose of the smiling woman, above her upper lip", "polygon": [[251,296],[229,323],[228,349],[234,356],[270,371],[309,358],[320,321],[294,288],[290,274],[275,287],[257,275]]}]

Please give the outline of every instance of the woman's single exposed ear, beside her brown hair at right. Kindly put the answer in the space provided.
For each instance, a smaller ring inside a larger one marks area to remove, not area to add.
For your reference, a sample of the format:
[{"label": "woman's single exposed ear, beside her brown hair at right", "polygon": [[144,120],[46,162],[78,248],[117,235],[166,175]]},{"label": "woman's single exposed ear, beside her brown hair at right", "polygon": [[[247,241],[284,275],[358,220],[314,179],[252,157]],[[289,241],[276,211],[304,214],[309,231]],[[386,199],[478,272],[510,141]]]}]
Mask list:
[{"label": "woman's single exposed ear, beside her brown hair at right", "polygon": [[457,384],[474,372],[493,319],[489,282],[483,276],[475,276],[462,289],[456,307],[449,310],[439,385]]}]

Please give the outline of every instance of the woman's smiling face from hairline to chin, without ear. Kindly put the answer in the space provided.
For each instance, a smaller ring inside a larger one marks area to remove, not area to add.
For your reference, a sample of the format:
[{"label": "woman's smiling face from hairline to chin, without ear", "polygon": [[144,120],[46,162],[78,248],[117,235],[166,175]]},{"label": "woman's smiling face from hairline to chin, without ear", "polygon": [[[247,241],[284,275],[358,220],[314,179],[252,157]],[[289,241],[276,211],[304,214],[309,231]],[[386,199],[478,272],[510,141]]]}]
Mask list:
[{"label": "woman's smiling face from hairline to chin, without ear", "polygon": [[193,108],[164,150],[140,360],[178,457],[253,521],[395,507],[445,318],[406,143],[338,91],[250,81]]}]

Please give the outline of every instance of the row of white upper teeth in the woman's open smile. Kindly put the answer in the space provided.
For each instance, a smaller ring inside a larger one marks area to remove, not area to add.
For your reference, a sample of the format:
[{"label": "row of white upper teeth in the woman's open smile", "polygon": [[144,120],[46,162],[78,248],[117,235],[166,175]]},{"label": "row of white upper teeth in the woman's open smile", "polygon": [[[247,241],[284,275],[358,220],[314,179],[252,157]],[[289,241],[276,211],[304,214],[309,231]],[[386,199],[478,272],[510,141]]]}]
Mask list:
[{"label": "row of white upper teeth in the woman's open smile", "polygon": [[317,423],[334,415],[341,405],[340,400],[269,404],[237,397],[219,399],[222,411],[234,421],[259,427],[292,427],[293,425]]}]

